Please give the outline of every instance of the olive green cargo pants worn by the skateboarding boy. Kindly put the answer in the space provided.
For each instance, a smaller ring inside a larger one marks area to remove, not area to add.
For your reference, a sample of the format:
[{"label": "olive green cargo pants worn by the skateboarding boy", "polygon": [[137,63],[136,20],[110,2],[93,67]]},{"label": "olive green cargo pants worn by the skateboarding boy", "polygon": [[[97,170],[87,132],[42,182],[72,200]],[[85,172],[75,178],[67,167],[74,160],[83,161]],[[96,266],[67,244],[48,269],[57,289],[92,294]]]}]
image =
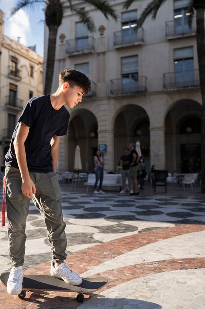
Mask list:
[{"label": "olive green cargo pants worn by the skateboarding boy", "polygon": [[[48,239],[52,247],[52,258],[62,263],[67,254],[66,223],[63,221],[61,191],[55,172],[29,172],[36,186],[33,202],[40,210],[47,227]],[[24,264],[26,219],[29,214],[30,199],[21,192],[19,169],[6,167],[6,203],[8,218],[9,255],[12,266]],[[37,248],[36,248],[37,253]]]}]

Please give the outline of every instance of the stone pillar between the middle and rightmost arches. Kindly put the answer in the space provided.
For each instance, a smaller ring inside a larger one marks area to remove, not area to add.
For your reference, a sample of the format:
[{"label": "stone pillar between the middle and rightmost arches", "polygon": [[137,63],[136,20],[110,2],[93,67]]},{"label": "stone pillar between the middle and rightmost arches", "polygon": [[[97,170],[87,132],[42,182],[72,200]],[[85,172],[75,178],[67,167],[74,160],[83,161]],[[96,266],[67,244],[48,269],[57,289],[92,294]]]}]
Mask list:
[{"label": "stone pillar between the middle and rightmost arches", "polygon": [[150,156],[151,166],[165,169],[165,128],[150,127]]}]

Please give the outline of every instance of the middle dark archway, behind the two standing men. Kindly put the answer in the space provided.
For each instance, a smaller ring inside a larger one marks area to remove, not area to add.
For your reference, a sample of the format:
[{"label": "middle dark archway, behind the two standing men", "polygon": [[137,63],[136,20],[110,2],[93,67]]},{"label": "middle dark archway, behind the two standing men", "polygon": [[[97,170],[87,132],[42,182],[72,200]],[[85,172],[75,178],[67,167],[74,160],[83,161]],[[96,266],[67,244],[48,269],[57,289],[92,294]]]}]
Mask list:
[{"label": "middle dark archway, behind the two standing men", "polygon": [[141,144],[142,156],[148,172],[150,170],[149,116],[142,107],[130,104],[119,111],[114,122],[115,166],[123,155],[124,147],[137,141]]}]

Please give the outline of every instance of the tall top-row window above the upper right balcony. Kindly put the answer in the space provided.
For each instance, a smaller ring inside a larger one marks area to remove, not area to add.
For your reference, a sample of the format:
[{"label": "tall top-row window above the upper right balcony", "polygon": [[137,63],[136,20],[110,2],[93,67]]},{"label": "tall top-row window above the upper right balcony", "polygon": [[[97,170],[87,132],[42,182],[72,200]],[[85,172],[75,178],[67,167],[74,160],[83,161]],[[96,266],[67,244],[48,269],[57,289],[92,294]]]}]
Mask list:
[{"label": "tall top-row window above the upper right balcony", "polygon": [[173,2],[174,8],[174,32],[175,34],[187,33],[190,31],[188,16],[189,0],[177,0]]}]

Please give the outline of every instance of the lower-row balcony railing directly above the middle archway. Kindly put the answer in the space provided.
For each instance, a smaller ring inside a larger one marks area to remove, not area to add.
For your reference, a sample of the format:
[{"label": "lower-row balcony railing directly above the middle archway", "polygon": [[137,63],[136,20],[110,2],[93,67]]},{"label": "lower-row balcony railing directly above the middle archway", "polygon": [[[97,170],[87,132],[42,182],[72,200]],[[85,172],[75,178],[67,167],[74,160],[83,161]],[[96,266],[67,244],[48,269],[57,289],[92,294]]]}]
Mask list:
[{"label": "lower-row balcony railing directly above the middle archway", "polygon": [[137,80],[133,79],[112,79],[110,82],[111,96],[128,95],[146,92],[146,76],[139,76]]}]

